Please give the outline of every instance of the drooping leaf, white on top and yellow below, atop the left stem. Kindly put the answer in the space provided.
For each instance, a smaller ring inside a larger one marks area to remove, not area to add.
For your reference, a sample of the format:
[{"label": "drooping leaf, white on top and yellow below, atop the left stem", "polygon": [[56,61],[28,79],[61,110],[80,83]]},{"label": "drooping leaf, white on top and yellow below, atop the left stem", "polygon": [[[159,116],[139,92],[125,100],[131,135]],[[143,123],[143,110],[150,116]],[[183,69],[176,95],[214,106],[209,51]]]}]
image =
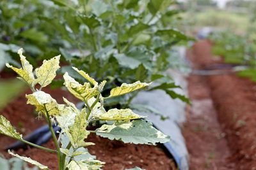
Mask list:
[{"label": "drooping leaf, white on top and yellow below, atop the left stem", "polygon": [[61,106],[56,102],[55,99],[52,99],[50,94],[47,94],[43,91],[37,91],[33,94],[26,95],[28,99],[27,104],[32,104],[36,107],[36,111],[42,111],[46,114],[45,108],[48,111],[49,115],[59,115]]}]

